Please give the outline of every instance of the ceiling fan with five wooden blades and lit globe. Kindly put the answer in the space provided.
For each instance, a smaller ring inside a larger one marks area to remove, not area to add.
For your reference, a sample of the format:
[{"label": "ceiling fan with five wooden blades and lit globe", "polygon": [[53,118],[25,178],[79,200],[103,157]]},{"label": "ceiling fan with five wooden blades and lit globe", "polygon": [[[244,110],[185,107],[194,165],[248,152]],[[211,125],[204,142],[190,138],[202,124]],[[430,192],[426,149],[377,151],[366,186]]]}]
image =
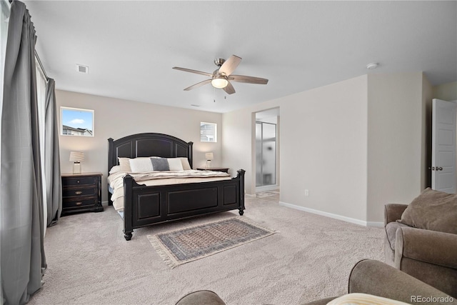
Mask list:
[{"label": "ceiling fan with five wooden blades and lit globe", "polygon": [[223,89],[224,91],[226,91],[227,94],[234,94],[235,89],[233,88],[230,81],[238,81],[238,83],[248,83],[248,84],[262,84],[262,85],[266,85],[268,83],[268,79],[261,79],[260,77],[232,74],[232,72],[235,71],[236,67],[238,66],[238,64],[240,64],[240,62],[241,62],[241,57],[238,57],[236,55],[230,56],[229,59],[227,59],[227,60],[215,59],[214,64],[216,64],[216,66],[218,66],[218,69],[214,70],[214,72],[212,74],[208,73],[208,72],[180,68],[179,66],[174,66],[173,69],[211,77],[211,79],[206,79],[205,81],[201,81],[197,84],[187,87],[186,89],[184,89],[185,91],[196,89],[199,86],[203,86],[203,85],[211,83],[211,85],[213,85],[214,88]]}]

